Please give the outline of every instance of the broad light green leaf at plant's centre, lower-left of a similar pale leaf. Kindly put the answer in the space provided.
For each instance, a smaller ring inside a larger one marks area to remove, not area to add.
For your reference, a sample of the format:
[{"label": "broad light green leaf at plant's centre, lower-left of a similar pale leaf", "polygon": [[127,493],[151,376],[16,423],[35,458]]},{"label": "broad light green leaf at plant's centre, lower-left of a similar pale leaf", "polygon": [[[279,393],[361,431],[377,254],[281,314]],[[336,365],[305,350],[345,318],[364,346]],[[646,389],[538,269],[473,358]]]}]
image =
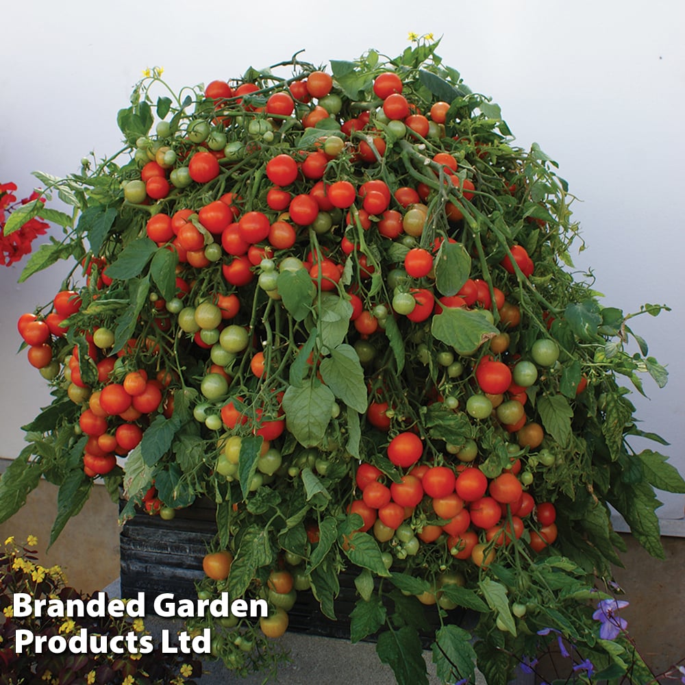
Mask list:
[{"label": "broad light green leaf at plant's centre, lower-left of a similar pale leaf", "polygon": [[303,447],[316,447],[331,421],[336,398],[330,388],[314,379],[302,388],[290,386],[283,396],[286,426]]}]

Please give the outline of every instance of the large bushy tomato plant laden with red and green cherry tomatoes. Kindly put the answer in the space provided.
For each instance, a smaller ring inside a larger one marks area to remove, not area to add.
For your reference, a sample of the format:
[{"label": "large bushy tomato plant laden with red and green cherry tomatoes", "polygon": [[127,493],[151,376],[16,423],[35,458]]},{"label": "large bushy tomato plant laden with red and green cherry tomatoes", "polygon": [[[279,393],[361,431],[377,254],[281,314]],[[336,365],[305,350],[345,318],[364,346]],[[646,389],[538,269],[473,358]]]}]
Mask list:
[{"label": "large bushy tomato plant laden with red and green cherry tomatoes", "polygon": [[3,515],[40,475],[60,486],[53,537],[98,478],[123,521],[208,498],[222,563],[199,593],[273,608],[209,619],[238,671],[271,663],[298,590],[336,618],[342,571],[352,639],[375,636],[401,683],[425,682],[416,626],[445,682],[475,664],[507,682],[557,642],[584,655],[577,682],[633,660],[595,612],[619,607],[610,507],[659,555],[654,487],[685,487],[630,447],[663,441],[622,385],[666,382],[632,330],[666,307],[625,314],[571,271],[555,162],[437,47],[330,73],[294,55],[179,94],[155,68],[119,111],[123,153],[38,174],[74,211],[21,279],[73,268],[19,322],[54,399]]}]

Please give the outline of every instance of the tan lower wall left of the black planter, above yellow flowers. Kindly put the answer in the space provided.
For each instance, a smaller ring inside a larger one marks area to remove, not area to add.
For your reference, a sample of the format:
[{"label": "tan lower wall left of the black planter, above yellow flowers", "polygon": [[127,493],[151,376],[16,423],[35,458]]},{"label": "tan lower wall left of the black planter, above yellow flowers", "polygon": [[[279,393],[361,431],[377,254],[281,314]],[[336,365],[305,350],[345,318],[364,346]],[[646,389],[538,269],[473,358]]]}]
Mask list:
[{"label": "tan lower wall left of the black planter, above yellow flowers", "polygon": [[106,488],[95,486],[79,515],[64,526],[46,551],[57,514],[57,493],[57,487],[42,480],[25,506],[0,524],[0,543],[13,535],[21,544],[34,535],[38,538],[38,563],[62,566],[67,584],[76,590],[101,590],[119,577],[119,510]]}]

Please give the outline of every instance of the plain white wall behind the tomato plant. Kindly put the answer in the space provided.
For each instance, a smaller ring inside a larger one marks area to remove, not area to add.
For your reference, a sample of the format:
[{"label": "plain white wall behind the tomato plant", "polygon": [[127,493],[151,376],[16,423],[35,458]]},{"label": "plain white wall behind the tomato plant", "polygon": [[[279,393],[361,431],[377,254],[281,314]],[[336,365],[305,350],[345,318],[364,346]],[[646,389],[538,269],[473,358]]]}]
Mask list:
[{"label": "plain white wall behind the tomato plant", "polygon": [[[647,379],[651,399],[634,401],[645,429],[672,443],[665,451],[685,472],[682,0],[30,6],[30,16],[29,5],[3,8],[0,42],[0,182],[27,191],[34,169],[61,175],[77,171],[93,149],[100,156],[119,149],[116,111],[145,67],[164,66],[179,87],[235,77],[302,48],[304,59],[324,64],[371,47],[396,55],[410,31],[442,35],[438,53],[501,105],[518,144],[538,142],[560,163],[582,200],[574,210],[589,249],[576,264],[593,267],[606,303],[625,312],[644,302],[673,308],[634,321],[671,374],[664,390]],[[14,355],[14,324],[51,297],[60,269],[22,286],[19,268],[0,271],[3,456],[16,456],[18,426],[49,402],[38,373]],[[666,497],[661,515],[682,517],[683,499]]]}]

